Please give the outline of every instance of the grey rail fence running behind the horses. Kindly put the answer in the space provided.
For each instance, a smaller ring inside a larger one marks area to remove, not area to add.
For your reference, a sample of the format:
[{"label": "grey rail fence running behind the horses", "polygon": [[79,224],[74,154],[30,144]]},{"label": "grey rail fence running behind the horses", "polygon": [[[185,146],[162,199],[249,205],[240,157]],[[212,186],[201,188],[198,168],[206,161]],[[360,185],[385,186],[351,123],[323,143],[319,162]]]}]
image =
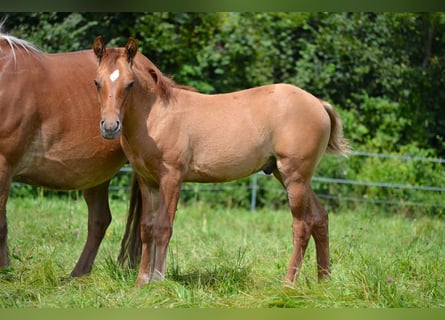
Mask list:
[{"label": "grey rail fence running behind the horses", "polygon": [[[403,161],[418,161],[418,162],[432,162],[438,163],[440,165],[445,164],[445,159],[436,159],[436,158],[424,158],[424,157],[411,157],[411,156],[399,156],[399,155],[390,155],[390,154],[379,154],[379,153],[368,153],[368,152],[351,152],[351,157],[376,157],[376,158],[392,158],[399,159]],[[440,166],[441,169],[442,166]],[[121,169],[121,174],[129,175],[131,173],[130,167],[123,167]],[[445,171],[444,171],[445,174]],[[252,211],[257,208],[257,199],[258,192],[264,191],[264,187],[258,184],[258,178],[263,175],[263,173],[257,173],[251,176],[250,183],[244,186],[233,186],[227,184],[210,184],[203,185],[199,188],[200,191],[221,191],[221,190],[240,190],[240,188],[246,188],[250,192],[250,209]],[[127,180],[129,181],[129,179]],[[377,188],[385,188],[385,189],[405,189],[405,190],[418,190],[425,192],[445,192],[445,187],[434,186],[434,185],[410,185],[410,184],[400,184],[400,183],[388,183],[388,182],[375,182],[375,181],[361,181],[361,180],[351,180],[351,179],[341,179],[341,178],[330,178],[323,176],[314,176],[312,178],[314,182],[326,183],[326,184],[336,184],[336,185],[355,185],[355,186],[363,186],[363,187],[377,187]],[[18,187],[24,184],[19,182],[13,182],[13,185]],[[120,186],[120,185],[112,185],[110,187],[111,192],[122,191],[123,189],[127,189],[128,186]],[[187,186],[183,187],[187,189]],[[266,191],[269,192],[277,192],[277,193],[285,193],[283,188],[267,188]],[[366,202],[373,204],[385,204],[385,205],[401,205],[400,201],[393,201],[391,199],[368,199],[364,197],[350,197],[347,194],[322,194],[317,193],[317,195],[322,199],[335,199],[338,201],[347,201],[347,202]],[[428,203],[428,202],[405,202],[405,204],[409,204],[410,206],[427,206],[427,207],[435,207],[435,208],[445,208],[445,204],[442,203]]]}]

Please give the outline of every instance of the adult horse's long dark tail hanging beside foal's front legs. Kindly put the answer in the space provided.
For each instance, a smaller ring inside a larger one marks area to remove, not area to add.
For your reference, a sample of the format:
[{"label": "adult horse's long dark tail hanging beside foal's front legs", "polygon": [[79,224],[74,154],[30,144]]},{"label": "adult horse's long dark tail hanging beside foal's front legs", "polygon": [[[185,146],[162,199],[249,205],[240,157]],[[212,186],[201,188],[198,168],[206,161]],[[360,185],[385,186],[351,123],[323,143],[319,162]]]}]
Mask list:
[{"label": "adult horse's long dark tail hanging beside foal's front legs", "polygon": [[139,184],[135,174],[133,174],[133,183],[131,187],[130,207],[128,209],[127,225],[125,234],[121,242],[121,251],[117,258],[118,263],[124,265],[128,260],[130,268],[136,268],[141,256],[141,233],[139,230],[139,221],[142,212],[142,197]]}]

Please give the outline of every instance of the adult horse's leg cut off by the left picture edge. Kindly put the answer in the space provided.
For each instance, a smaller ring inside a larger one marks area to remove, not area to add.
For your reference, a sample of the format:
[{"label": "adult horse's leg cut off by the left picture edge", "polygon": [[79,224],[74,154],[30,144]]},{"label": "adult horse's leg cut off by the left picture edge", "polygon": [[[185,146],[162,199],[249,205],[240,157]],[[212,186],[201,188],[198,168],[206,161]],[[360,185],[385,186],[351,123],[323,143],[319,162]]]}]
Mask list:
[{"label": "adult horse's leg cut off by the left picture edge", "polygon": [[6,202],[11,188],[11,174],[6,159],[0,156],[0,269],[9,267]]}]

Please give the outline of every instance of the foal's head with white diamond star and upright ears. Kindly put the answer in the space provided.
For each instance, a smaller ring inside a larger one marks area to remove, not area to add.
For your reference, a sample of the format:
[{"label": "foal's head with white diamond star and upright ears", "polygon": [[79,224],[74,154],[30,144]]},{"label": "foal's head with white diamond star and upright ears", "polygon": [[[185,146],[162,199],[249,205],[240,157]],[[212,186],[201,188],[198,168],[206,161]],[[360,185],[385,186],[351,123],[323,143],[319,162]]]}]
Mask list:
[{"label": "foal's head with white diamond star and upright ears", "polygon": [[94,53],[99,61],[94,83],[101,111],[100,131],[106,139],[115,139],[122,130],[123,109],[134,84],[131,70],[137,43],[130,38],[122,48],[107,49],[101,36],[94,40]]}]

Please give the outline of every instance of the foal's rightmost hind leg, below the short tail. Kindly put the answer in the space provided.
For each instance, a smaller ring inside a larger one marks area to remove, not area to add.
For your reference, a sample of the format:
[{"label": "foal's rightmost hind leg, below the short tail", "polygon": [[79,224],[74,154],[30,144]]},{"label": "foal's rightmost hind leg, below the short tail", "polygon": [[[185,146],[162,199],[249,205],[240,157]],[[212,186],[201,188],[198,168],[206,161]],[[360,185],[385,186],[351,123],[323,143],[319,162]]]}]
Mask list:
[{"label": "foal's rightmost hind leg, below the short tail", "polygon": [[309,210],[314,219],[312,237],[314,238],[317,251],[318,280],[322,280],[329,277],[331,267],[329,262],[328,213],[321,206],[317,195],[312,189]]}]

